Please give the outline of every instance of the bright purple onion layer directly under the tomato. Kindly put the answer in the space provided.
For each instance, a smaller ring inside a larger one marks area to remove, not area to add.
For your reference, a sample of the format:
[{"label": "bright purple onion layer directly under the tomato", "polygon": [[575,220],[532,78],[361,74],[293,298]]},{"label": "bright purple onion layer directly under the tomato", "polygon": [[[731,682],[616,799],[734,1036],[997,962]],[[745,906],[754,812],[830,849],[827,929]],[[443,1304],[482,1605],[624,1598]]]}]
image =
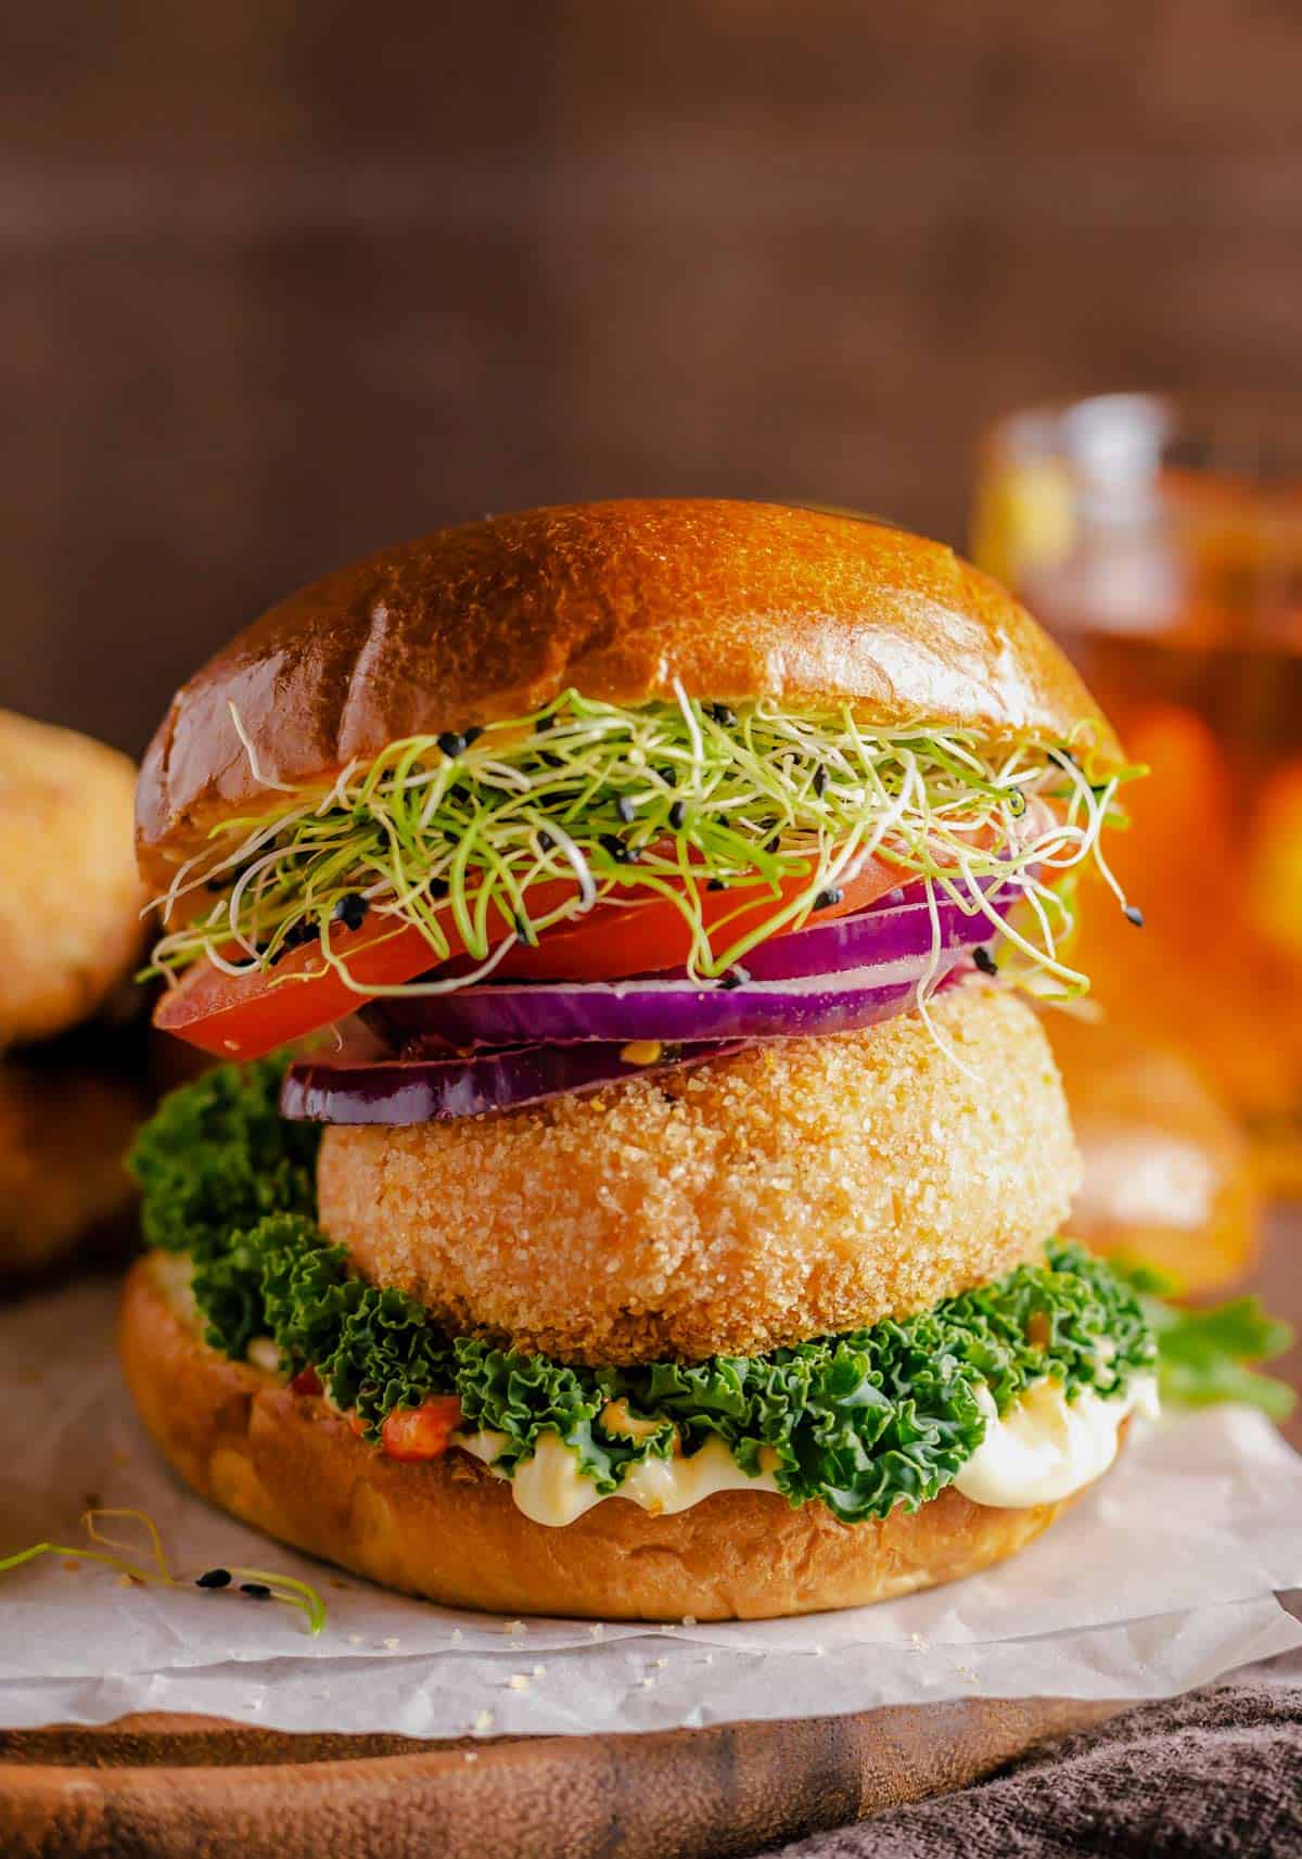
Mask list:
[{"label": "bright purple onion layer directly under the tomato", "polygon": [[[1012,896],[1014,890],[1001,894],[996,907],[1007,907]],[[693,982],[680,972],[630,982],[485,983],[453,995],[390,996],[373,1017],[397,1043],[418,1039],[459,1050],[849,1032],[906,1011],[919,982],[942,980],[994,935],[990,918],[979,911],[945,900],[936,903],[936,915],[938,948],[925,900],[873,905],[760,944],[747,957],[745,980]]]}]

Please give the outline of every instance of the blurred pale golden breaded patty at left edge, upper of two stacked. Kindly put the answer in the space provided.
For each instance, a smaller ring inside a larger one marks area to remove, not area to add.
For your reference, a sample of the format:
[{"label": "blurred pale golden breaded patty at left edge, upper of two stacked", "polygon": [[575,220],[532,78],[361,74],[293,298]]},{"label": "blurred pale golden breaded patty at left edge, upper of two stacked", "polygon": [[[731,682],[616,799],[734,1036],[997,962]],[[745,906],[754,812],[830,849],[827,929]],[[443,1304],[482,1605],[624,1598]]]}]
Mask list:
[{"label": "blurred pale golden breaded patty at left edge, upper of two stacked", "polygon": [[0,1050],[65,1032],[130,972],[134,792],[124,755],[0,710]]}]

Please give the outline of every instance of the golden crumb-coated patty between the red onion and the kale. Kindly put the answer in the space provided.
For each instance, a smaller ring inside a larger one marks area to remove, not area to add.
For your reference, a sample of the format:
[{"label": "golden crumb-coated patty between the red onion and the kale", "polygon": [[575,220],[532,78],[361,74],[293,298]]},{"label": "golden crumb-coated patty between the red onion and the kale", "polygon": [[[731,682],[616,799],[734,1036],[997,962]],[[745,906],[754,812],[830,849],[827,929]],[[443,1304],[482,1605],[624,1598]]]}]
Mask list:
[{"label": "golden crumb-coated patty between the red onion and the kale", "polygon": [[451,1327],[566,1361],[927,1309],[1035,1259],[1077,1186],[1035,1013],[968,983],[932,1015],[940,1043],[908,1013],[501,1117],[331,1128],[321,1223]]}]

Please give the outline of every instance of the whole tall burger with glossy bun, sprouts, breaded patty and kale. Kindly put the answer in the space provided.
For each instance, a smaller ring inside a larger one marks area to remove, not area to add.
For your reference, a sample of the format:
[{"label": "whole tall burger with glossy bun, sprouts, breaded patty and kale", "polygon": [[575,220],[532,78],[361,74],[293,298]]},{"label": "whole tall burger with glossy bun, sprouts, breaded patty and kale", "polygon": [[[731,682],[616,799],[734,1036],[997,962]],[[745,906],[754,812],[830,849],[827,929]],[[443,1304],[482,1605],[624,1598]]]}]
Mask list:
[{"label": "whole tall burger with glossy bun, sprouts, breaded patty and kale", "polygon": [[[180,690],[121,1353],[206,1498],[390,1588],[726,1619],[1036,1537],[1152,1402],[1035,1011],[1127,770],[949,548],[526,511]],[[1124,900],[1118,898],[1124,907]]]}]

